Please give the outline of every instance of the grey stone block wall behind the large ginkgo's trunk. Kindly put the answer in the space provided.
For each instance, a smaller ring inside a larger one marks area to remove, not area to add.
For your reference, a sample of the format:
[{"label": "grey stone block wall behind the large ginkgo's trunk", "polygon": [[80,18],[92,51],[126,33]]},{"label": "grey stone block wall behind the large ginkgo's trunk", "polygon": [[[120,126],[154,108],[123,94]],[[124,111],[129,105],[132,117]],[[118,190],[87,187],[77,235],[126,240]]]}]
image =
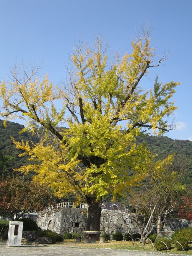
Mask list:
[{"label": "grey stone block wall behind the large ginkgo's trunk", "polygon": [[[38,213],[37,224],[41,229],[51,229],[58,234],[66,232],[83,234],[87,222],[86,208],[60,208],[56,212]],[[168,219],[163,231],[174,231],[178,228],[192,227],[192,221],[183,219]],[[138,233],[130,215],[121,211],[102,210],[100,231],[111,236],[116,231]]]}]

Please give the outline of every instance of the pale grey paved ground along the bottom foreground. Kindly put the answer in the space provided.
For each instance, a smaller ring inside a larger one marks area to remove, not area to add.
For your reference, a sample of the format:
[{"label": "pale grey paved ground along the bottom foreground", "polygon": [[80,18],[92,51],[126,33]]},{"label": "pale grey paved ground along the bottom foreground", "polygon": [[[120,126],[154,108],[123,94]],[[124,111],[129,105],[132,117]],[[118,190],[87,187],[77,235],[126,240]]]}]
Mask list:
[{"label": "pale grey paved ground along the bottom foreground", "polygon": [[[0,256],[157,256],[155,252],[139,252],[115,249],[94,249],[57,245],[23,245],[8,247],[0,244]],[[162,254],[161,254],[162,255]],[[165,254],[164,254],[165,255]],[[173,254],[172,254],[173,255]],[[181,255],[180,255],[181,256]]]}]

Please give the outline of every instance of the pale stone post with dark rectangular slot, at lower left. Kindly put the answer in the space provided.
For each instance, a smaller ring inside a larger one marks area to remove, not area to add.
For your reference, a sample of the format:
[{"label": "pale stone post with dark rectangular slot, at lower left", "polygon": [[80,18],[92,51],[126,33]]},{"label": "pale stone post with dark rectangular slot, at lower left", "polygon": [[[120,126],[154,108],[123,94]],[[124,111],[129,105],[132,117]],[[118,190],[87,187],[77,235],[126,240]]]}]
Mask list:
[{"label": "pale stone post with dark rectangular slot, at lower left", "polygon": [[21,246],[23,221],[9,221],[8,246]]}]

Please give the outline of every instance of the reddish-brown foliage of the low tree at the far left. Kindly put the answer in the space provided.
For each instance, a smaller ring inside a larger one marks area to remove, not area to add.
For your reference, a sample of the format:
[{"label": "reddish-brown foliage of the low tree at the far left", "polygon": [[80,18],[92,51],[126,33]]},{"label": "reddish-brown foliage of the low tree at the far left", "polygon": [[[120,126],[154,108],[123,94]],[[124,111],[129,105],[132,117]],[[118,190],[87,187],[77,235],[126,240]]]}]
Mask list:
[{"label": "reddish-brown foliage of the low tree at the far left", "polygon": [[52,200],[48,187],[38,182],[25,181],[23,178],[0,178],[0,215],[14,215],[21,211],[42,210]]}]

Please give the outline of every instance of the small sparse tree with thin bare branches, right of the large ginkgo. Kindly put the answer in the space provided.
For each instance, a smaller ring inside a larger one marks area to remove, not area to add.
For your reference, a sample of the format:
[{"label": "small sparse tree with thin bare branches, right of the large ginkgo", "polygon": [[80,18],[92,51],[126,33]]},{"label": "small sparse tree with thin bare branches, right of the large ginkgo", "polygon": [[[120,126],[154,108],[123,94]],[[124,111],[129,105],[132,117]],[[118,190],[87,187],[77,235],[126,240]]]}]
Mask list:
[{"label": "small sparse tree with thin bare branches, right of the large ginkgo", "polygon": [[174,155],[164,160],[151,162],[149,174],[144,181],[148,184],[139,192],[132,191],[127,198],[135,213],[130,213],[132,220],[145,244],[147,237],[157,228],[157,234],[162,230],[167,216],[178,210],[185,192],[180,184],[180,173],[173,171],[171,164]]}]

